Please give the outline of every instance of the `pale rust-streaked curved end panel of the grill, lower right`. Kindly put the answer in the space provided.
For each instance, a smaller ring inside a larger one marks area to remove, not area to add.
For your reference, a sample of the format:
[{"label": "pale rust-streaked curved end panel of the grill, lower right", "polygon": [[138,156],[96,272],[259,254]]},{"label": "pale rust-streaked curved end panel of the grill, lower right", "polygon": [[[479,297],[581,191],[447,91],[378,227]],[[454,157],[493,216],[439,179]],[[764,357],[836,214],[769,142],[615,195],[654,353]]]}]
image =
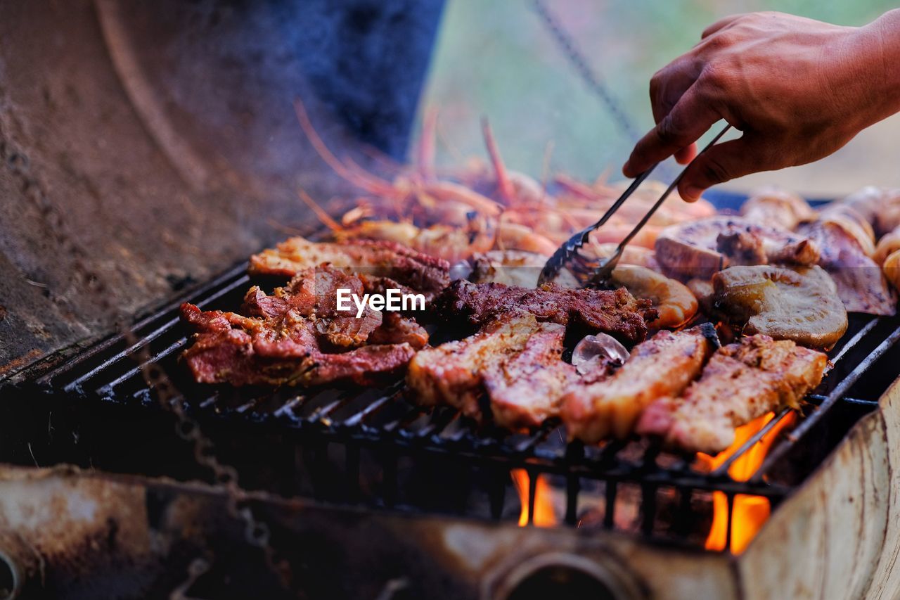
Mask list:
[{"label": "pale rust-streaked curved end panel of the grill, lower right", "polygon": [[744,598],[898,598],[900,379],[735,559]]}]

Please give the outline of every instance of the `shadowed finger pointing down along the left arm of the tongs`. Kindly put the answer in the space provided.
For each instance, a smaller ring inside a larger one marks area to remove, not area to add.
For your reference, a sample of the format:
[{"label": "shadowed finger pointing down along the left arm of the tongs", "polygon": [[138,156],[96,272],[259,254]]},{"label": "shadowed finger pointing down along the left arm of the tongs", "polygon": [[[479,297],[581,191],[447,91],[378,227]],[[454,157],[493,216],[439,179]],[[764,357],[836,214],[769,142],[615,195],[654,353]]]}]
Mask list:
[{"label": "shadowed finger pointing down along the left arm of the tongs", "polygon": [[626,177],[637,177],[653,163],[668,159],[672,154],[685,150],[680,159],[689,156],[689,147],[720,119],[706,99],[701,97],[696,86],[681,96],[660,123],[635,145],[631,156],[622,168]]}]

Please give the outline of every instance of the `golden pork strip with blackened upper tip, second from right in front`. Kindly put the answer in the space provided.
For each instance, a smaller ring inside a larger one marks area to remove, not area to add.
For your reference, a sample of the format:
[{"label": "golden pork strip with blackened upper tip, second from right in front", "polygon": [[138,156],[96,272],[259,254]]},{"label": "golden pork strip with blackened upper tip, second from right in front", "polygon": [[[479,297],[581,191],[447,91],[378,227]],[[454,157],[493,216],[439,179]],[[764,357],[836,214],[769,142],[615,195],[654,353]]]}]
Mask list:
[{"label": "golden pork strip with blackened upper tip, second from right in front", "polygon": [[662,331],[635,346],[611,377],[563,396],[561,416],[570,439],[626,438],[645,407],[679,395],[698,376],[716,340],[715,328],[707,323],[683,332]]}]

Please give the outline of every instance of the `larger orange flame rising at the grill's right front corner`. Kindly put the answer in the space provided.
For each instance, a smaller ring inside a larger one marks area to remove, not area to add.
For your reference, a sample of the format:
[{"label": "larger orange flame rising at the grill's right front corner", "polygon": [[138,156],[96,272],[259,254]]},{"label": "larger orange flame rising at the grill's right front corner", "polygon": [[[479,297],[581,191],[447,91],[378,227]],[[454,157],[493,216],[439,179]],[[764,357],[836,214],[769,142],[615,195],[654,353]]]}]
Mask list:
[{"label": "larger orange flame rising at the grill's right front corner", "polygon": [[[734,433],[734,443],[711,457],[698,453],[698,460],[709,470],[721,466],[744,442],[759,432],[766,423],[775,418],[775,413],[764,414],[750,423],[738,427]],[[779,432],[794,422],[795,415],[788,414],[784,419],[762,436],[750,450],[732,463],[728,475],[735,481],[746,481],[761,467],[763,459],[769,452]],[[732,514],[731,551],[740,554],[760,531],[763,523],[769,518],[769,499],[759,495],[734,496],[734,514]],[[724,492],[713,492],[713,526],[707,536],[707,550],[725,550],[728,540],[728,496]]]}]

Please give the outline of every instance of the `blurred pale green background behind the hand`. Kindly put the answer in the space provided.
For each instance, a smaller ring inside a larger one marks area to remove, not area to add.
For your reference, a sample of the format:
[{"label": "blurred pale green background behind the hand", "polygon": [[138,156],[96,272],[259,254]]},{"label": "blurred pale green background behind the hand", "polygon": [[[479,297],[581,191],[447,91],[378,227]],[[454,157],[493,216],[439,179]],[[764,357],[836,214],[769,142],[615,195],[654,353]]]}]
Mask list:
[{"label": "blurred pale green background behind the hand", "polygon": [[[653,125],[647,88],[653,73],[689,50],[708,24],[728,14],[777,10],[829,23],[861,25],[890,2],[716,0],[545,0],[637,135]],[[579,77],[531,0],[447,0],[419,106],[439,111],[438,163],[485,156],[486,115],[510,168],[540,178],[551,167],[593,179],[618,178],[635,139]],[[900,186],[900,117],[869,128],[828,159],[730,182],[745,191],[775,183],[834,197],[869,184]],[[671,170],[670,170],[671,172]]]}]

